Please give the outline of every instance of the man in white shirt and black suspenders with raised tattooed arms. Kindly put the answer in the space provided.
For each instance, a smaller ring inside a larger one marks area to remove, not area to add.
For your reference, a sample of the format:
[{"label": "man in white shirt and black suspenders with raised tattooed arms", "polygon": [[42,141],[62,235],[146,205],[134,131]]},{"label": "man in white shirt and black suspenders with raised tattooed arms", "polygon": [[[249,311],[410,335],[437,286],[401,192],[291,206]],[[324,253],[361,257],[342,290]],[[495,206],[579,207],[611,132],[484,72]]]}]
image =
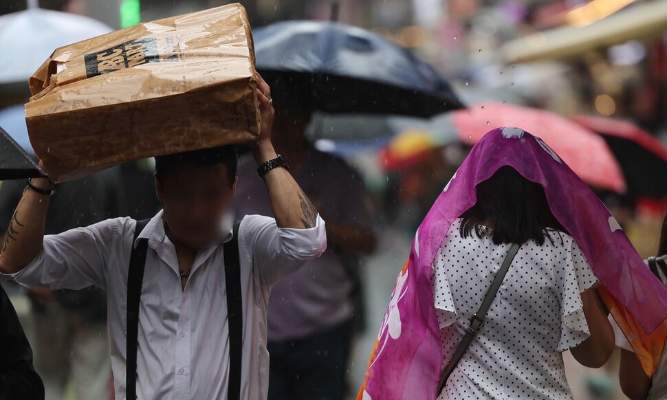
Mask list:
[{"label": "man in white shirt and black suspenders with raised tattooed arms", "polygon": [[[229,147],[156,157],[163,209],[150,221],[110,219],[44,236],[54,190],[47,179],[29,181],[14,212],[3,274],[28,286],[107,290],[116,399],[267,396],[270,288],[322,254],[326,233],[274,151],[270,88],[257,80],[262,124],[252,153],[275,219],[226,218],[237,183]],[[43,167],[57,180],[57,168]]]}]

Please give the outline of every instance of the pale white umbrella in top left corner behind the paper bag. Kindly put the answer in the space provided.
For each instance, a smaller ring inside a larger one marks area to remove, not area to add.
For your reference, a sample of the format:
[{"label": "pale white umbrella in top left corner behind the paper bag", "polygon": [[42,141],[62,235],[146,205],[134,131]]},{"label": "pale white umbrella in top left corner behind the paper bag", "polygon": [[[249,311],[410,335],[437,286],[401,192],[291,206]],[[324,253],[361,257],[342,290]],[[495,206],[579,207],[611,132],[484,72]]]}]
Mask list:
[{"label": "pale white umbrella in top left corner behind the paper bag", "polygon": [[25,82],[57,47],[111,30],[87,16],[41,8],[2,15],[0,84]]}]

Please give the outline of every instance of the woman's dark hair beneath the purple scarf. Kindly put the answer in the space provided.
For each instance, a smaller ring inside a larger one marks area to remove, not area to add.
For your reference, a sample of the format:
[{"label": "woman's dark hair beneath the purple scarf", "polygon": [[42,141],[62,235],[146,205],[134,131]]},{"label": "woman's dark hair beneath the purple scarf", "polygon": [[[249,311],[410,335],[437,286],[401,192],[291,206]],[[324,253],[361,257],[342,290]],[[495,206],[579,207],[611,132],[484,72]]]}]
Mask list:
[{"label": "woman's dark hair beneath the purple scarf", "polygon": [[467,238],[473,231],[480,238],[489,234],[496,245],[523,244],[529,239],[543,245],[545,238],[553,243],[549,228],[566,232],[551,214],[542,186],[510,166],[499,168],[477,185],[477,203],[461,218],[461,236]]}]

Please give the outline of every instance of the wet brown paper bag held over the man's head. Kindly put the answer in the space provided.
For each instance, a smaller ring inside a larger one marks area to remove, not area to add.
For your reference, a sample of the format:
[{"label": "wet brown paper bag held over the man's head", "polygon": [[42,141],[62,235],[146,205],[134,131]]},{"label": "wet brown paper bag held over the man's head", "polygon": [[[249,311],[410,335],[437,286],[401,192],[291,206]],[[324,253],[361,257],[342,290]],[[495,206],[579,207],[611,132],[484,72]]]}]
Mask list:
[{"label": "wet brown paper bag held over the man's head", "polygon": [[259,135],[254,74],[239,4],[74,43],[30,78],[30,142],[45,163],[69,171],[64,178],[248,142]]}]

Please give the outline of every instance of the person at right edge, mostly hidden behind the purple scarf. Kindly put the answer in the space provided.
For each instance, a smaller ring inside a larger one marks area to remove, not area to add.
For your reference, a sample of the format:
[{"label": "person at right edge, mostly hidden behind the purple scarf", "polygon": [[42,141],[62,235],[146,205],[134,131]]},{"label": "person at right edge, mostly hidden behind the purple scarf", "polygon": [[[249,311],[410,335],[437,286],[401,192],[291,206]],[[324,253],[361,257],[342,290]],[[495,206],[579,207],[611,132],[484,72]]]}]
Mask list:
[{"label": "person at right edge, mostly hidden behind the purple scarf", "polygon": [[[662,221],[657,256],[648,258],[646,263],[653,274],[667,286],[667,215]],[[647,377],[632,346],[617,325],[613,326],[616,330],[616,345],[621,348],[619,379],[624,394],[632,400],[667,399],[667,352],[663,353],[653,376]]]}]

